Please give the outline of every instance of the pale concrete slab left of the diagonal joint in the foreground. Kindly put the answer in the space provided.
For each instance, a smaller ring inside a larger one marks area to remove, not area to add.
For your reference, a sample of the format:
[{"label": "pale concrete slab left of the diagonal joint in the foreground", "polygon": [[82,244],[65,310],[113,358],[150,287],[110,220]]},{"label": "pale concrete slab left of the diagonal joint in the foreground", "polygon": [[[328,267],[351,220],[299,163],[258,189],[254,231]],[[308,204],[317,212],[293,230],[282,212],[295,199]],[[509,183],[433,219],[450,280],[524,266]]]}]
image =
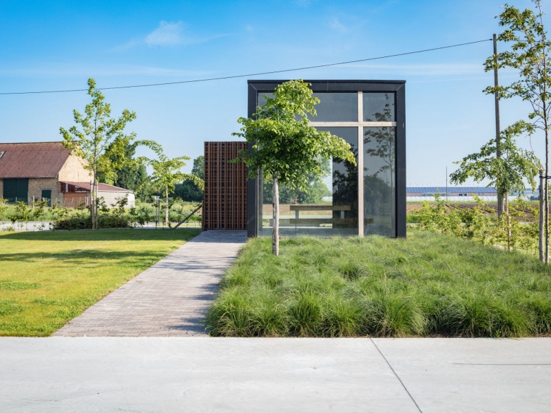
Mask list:
[{"label": "pale concrete slab left of the diagonal joint in the foreground", "polygon": [[418,412],[370,340],[0,339],[0,412]]}]

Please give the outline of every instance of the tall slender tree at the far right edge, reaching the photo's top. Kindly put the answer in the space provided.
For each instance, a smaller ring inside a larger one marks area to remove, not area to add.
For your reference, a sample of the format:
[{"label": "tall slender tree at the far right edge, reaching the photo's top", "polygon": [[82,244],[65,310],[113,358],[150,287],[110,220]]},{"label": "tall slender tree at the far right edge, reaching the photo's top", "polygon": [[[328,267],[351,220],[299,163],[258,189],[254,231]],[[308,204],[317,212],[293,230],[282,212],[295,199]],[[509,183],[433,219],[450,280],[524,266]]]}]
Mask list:
[{"label": "tall slender tree at the far right edge, reaching the photo's top", "polygon": [[[490,56],[485,63],[489,72],[498,68],[510,67],[519,71],[519,81],[508,86],[487,87],[485,92],[496,94],[499,98],[517,96],[526,100],[532,107],[528,118],[532,120],[534,129],[540,129],[545,136],[545,176],[549,175],[549,129],[551,109],[551,66],[548,59],[551,42],[543,28],[543,13],[541,1],[532,0],[534,10],[520,11],[506,5],[499,14],[499,25],[506,28],[497,39],[512,43],[510,50]],[[545,180],[547,182],[547,180]],[[544,202],[544,210],[549,211],[548,184],[543,186],[540,202]],[[549,212],[545,213],[545,253],[540,251],[540,257],[549,262]]]}]

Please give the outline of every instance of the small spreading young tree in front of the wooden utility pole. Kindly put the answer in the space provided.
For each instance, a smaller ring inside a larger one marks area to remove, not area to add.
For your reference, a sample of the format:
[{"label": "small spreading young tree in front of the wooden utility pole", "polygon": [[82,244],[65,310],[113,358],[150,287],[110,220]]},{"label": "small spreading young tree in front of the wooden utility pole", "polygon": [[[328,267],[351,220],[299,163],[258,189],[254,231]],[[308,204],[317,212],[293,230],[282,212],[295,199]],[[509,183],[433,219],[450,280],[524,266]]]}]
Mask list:
[{"label": "small spreading young tree in front of the wooden utility pole", "polygon": [[501,156],[497,158],[498,150],[497,138],[490,140],[486,145],[480,148],[478,153],[472,153],[459,162],[459,169],[450,175],[450,182],[453,184],[463,184],[468,178],[475,182],[490,180],[490,185],[494,185],[497,193],[503,197],[505,214],[507,217],[507,239],[510,245],[510,215],[509,215],[509,193],[518,191],[524,193],[527,180],[532,186],[532,191],[536,187],[534,177],[541,169],[541,162],[532,151],[525,151],[517,147],[515,136],[523,134],[525,131],[532,131],[532,125],[522,120],[514,123],[501,131],[501,140],[499,142],[499,151]]}]

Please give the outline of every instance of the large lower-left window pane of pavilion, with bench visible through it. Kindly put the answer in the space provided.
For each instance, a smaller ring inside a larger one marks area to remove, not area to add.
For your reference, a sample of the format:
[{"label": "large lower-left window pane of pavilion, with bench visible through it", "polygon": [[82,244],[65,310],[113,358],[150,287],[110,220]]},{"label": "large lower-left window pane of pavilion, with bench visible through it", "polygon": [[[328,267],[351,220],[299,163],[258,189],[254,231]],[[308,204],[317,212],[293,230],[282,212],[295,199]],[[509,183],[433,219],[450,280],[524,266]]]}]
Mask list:
[{"label": "large lower-left window pane of pavilion, with bench visible through it", "polygon": [[[351,144],[357,155],[357,128],[318,128],[331,131]],[[306,191],[280,185],[280,235],[320,237],[357,235],[357,167],[342,160],[320,160],[326,176],[310,180]],[[259,188],[258,236],[271,237],[272,181],[264,177]]]}]

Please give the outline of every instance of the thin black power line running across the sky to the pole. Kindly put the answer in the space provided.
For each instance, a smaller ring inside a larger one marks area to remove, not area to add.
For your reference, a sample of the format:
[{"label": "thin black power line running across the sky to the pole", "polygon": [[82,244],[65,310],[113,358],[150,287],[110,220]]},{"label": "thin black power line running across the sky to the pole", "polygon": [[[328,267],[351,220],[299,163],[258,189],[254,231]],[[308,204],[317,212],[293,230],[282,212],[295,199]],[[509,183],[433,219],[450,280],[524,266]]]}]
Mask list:
[{"label": "thin black power line running across the sky to the pole", "polygon": [[[347,61],[347,62],[340,62],[340,63],[327,63],[326,65],[315,65],[315,66],[306,66],[306,67],[297,67],[295,69],[284,69],[284,70],[273,70],[271,72],[260,72],[260,73],[251,73],[251,74],[236,74],[234,76],[223,76],[218,78],[205,78],[205,79],[196,79],[194,81],[179,81],[179,82],[167,82],[167,83],[150,83],[148,85],[131,85],[131,86],[113,86],[113,87],[98,87],[100,90],[108,90],[108,89],[130,89],[132,87],[149,87],[149,86],[165,86],[165,85],[179,85],[182,83],[197,83],[197,82],[208,82],[208,81],[222,81],[225,79],[233,79],[233,78],[242,78],[242,77],[249,77],[249,76],[260,76],[261,74],[274,74],[274,73],[284,73],[284,72],[295,72],[298,70],[306,70],[306,69],[317,69],[319,67],[328,67],[328,66],[337,66],[337,65],[348,65],[349,63],[359,63],[359,62],[365,62],[365,61],[373,61],[373,60],[379,60],[379,59],[387,59],[388,57],[397,57],[397,56],[406,56],[407,54],[416,54],[416,53],[424,53],[424,52],[433,52],[434,50],[442,50],[442,49],[449,49],[450,47],[459,47],[459,46],[465,46],[465,45],[473,45],[475,43],[482,43],[484,41],[492,41],[492,39],[484,39],[484,40],[478,40],[478,41],[470,41],[468,43],[459,43],[457,45],[449,45],[449,46],[442,46],[442,47],[434,47],[433,49],[425,49],[425,50],[417,50],[415,52],[406,52],[406,53],[398,53],[398,54],[388,54],[386,56],[379,56],[379,57],[370,57],[368,59],[358,59],[354,61]],[[67,90],[43,90],[39,92],[0,92],[0,95],[12,95],[12,94],[43,94],[43,93],[66,93],[66,92],[87,92],[88,89],[67,89]]]}]

